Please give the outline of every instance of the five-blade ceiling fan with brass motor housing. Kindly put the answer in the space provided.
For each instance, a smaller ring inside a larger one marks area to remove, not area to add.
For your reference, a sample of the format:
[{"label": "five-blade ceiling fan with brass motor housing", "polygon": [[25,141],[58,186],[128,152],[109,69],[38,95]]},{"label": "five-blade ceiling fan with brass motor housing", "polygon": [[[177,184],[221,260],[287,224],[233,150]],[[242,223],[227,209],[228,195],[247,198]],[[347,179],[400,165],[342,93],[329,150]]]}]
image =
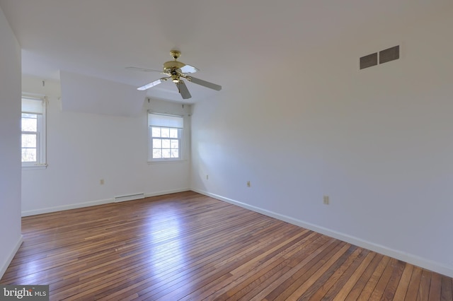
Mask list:
[{"label": "five-blade ceiling fan with brass motor housing", "polygon": [[[195,73],[198,71],[197,68],[194,66],[186,65],[182,61],[178,61],[178,57],[180,57],[181,53],[178,50],[171,50],[170,52],[171,57],[173,57],[173,61],[166,61],[164,63],[164,71],[162,71],[161,74],[166,74],[166,77],[159,78],[156,81],[151,81],[151,83],[147,83],[146,85],[142,85],[142,87],[137,88],[137,90],[147,90],[149,88],[154,87],[155,85],[159,85],[159,83],[162,83],[164,81],[168,81],[168,79],[171,79],[173,83],[176,84],[176,87],[178,87],[178,91],[180,95],[183,97],[183,99],[188,99],[191,98],[192,95],[190,95],[189,90],[187,86],[185,85],[183,78],[186,79],[187,81],[190,81],[192,83],[196,83],[197,85],[202,85],[203,87],[206,88],[211,88],[214,90],[222,90],[221,85],[217,85],[215,83],[210,83],[208,81],[203,81],[202,79],[195,78],[193,76],[189,76],[188,74],[190,73]],[[157,71],[153,69],[144,69],[144,68],[139,68],[139,67],[127,67],[127,69],[137,69],[141,71]],[[158,71],[161,72],[161,71]]]}]

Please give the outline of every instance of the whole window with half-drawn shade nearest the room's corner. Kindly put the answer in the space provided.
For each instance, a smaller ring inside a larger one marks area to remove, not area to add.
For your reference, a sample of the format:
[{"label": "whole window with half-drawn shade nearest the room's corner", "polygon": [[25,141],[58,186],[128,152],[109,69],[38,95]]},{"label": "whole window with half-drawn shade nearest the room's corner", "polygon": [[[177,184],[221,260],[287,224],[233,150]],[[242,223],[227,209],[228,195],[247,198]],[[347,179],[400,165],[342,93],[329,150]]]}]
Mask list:
[{"label": "whole window with half-drawn shade nearest the room's corner", "polygon": [[183,160],[182,116],[149,113],[149,161]]}]

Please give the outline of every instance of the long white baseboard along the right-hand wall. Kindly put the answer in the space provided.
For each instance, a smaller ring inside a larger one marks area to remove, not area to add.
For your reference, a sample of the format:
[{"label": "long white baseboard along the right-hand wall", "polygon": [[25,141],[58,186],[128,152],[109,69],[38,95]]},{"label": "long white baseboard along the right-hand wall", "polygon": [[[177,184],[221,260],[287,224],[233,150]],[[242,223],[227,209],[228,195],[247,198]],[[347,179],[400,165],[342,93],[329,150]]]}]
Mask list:
[{"label": "long white baseboard along the right-hand wall", "polygon": [[314,225],[312,223],[306,223],[303,220],[298,220],[296,218],[291,218],[289,216],[284,216],[279,213],[275,213],[273,211],[268,211],[263,208],[259,208],[256,206],[251,206],[248,205],[247,203],[242,203],[240,201],[235,201],[233,199],[228,199],[225,198],[224,196],[219,196],[217,194],[212,194],[207,191],[202,191],[200,189],[192,189],[195,192],[198,192],[200,194],[204,194],[206,196],[211,196],[214,199],[218,199],[220,201],[226,201],[227,203],[234,204],[236,206],[241,206],[243,208],[249,209],[251,211],[255,211],[261,214],[264,214],[265,216],[270,216],[272,218],[277,218],[278,220],[283,220],[287,223],[291,223],[293,225],[297,225],[302,228],[306,228],[308,230],[312,230],[315,232],[319,232],[323,235],[327,235],[329,237],[336,238],[337,240],[342,240],[343,242],[348,242],[350,244],[354,244],[358,247],[362,247],[365,249],[372,250],[374,252],[377,252],[379,254],[384,254],[386,256],[390,256],[394,259],[398,259],[401,261],[405,261],[408,264],[413,264],[415,266],[420,266],[421,268],[426,268],[430,271],[435,271],[436,273],[440,273],[445,276],[453,277],[453,267],[452,266],[446,266],[445,264],[441,264],[436,261],[431,261],[429,259],[424,259],[420,256],[416,256],[414,254],[409,254],[406,252],[401,252],[395,249],[390,249],[388,247],[382,246],[380,244],[375,244],[373,242],[368,242],[367,240],[362,240],[358,237],[353,237],[351,235],[347,235],[341,232],[337,232],[335,230],[331,230],[328,228],[323,228],[319,225]]}]

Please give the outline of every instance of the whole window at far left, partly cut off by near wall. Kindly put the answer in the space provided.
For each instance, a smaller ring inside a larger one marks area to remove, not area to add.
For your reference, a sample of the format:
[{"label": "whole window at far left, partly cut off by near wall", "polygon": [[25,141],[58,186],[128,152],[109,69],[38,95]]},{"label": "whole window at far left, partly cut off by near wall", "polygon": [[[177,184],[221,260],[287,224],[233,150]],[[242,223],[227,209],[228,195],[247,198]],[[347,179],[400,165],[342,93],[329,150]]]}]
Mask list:
[{"label": "whole window at far left, partly cut off by near wall", "polygon": [[45,98],[22,98],[22,167],[46,166]]}]

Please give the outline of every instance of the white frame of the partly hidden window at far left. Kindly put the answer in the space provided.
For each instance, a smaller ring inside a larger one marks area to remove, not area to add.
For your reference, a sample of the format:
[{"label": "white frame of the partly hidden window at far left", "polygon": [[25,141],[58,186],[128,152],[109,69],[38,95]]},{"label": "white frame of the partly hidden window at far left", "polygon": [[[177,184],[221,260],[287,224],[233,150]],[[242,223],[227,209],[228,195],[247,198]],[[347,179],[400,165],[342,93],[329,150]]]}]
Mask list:
[{"label": "white frame of the partly hidden window at far left", "polygon": [[[36,107],[42,106],[40,110],[34,110],[32,108],[24,109],[23,108],[23,100],[32,100],[36,102],[40,102],[37,104]],[[21,141],[23,134],[35,134],[36,135],[36,161],[33,162],[24,162],[21,159],[21,164],[23,169],[43,169],[47,167],[47,98],[45,96],[36,96],[36,95],[22,95],[21,99]],[[40,112],[38,112],[40,111]],[[22,114],[33,114],[36,115],[36,131],[23,131],[22,130],[22,119],[26,118],[23,117]],[[21,153],[23,147],[21,143]],[[21,155],[22,158],[22,155]]]}]

